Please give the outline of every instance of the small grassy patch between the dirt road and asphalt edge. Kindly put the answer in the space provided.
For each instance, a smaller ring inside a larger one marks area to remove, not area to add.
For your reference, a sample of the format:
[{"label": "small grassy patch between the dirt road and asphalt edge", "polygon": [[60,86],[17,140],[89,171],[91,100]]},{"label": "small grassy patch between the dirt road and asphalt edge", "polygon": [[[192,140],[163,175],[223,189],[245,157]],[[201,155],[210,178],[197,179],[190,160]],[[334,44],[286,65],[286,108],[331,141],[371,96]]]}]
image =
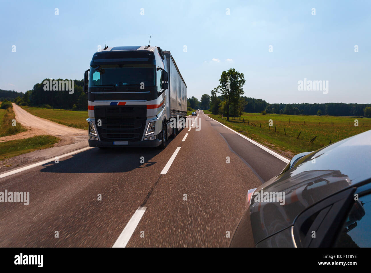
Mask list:
[{"label": "small grassy patch between the dirt road and asphalt edge", "polygon": [[22,155],[24,153],[33,152],[35,150],[50,148],[53,147],[53,145],[58,141],[58,137],[42,135],[29,137],[27,139],[1,142],[0,160]]}]

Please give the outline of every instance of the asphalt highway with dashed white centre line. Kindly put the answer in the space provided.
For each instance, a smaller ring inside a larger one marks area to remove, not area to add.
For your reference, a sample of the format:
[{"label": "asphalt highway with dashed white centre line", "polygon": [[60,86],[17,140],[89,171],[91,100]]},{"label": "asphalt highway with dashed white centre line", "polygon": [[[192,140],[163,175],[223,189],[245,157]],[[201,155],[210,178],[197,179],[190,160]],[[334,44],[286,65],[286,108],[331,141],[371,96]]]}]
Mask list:
[{"label": "asphalt highway with dashed white centre line", "polygon": [[247,190],[286,163],[200,112],[164,150],[92,148],[0,178],[30,192],[0,203],[0,247],[226,247]]}]

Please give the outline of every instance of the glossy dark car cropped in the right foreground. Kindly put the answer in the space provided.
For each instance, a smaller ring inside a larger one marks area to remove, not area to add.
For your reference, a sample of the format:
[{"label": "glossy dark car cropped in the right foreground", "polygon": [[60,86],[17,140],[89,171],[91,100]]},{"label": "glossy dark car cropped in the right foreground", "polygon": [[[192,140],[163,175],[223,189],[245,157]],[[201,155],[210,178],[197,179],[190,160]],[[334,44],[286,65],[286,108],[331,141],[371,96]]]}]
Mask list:
[{"label": "glossy dark car cropped in the right foreground", "polygon": [[371,247],[370,139],[371,130],[300,153],[249,190],[229,246]]}]

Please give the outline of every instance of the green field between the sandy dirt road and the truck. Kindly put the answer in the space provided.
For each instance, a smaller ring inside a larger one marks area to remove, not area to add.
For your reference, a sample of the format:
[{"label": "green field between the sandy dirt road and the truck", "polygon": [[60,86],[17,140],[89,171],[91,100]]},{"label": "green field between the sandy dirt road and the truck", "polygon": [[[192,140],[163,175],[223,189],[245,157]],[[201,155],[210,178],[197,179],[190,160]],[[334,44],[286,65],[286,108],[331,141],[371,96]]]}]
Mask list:
[{"label": "green field between the sandy dirt road and the truck", "polygon": [[46,109],[30,106],[22,106],[22,108],[37,117],[45,118],[69,127],[88,130],[88,123],[86,122],[88,111]]}]

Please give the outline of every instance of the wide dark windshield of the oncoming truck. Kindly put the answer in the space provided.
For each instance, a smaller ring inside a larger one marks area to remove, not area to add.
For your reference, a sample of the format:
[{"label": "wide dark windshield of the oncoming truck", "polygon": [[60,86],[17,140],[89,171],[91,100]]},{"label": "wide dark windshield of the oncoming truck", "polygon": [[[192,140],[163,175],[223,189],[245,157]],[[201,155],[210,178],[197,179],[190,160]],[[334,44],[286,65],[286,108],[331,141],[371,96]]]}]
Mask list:
[{"label": "wide dark windshield of the oncoming truck", "polygon": [[90,69],[89,86],[155,86],[154,65],[101,65]]}]

